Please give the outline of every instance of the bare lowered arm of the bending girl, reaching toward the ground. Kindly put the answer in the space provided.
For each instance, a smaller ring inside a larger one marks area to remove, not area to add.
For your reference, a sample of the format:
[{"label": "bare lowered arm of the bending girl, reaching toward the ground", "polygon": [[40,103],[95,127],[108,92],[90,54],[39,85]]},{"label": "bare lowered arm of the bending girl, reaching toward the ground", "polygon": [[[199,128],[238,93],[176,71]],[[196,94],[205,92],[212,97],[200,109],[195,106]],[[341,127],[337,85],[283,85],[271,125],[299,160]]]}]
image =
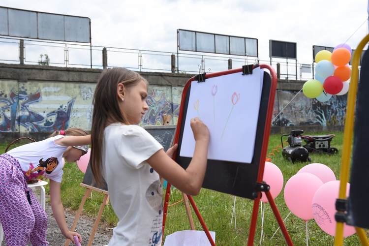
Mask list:
[{"label": "bare lowered arm of the bending girl, reaching toward the ground", "polygon": [[75,244],[73,236],[77,235],[80,242],[82,242],[82,237],[77,232],[69,231],[68,225],[65,221],[64,207],[61,198],[61,183],[50,180],[50,200],[51,209],[57,224],[66,239],[70,239],[73,244]]}]

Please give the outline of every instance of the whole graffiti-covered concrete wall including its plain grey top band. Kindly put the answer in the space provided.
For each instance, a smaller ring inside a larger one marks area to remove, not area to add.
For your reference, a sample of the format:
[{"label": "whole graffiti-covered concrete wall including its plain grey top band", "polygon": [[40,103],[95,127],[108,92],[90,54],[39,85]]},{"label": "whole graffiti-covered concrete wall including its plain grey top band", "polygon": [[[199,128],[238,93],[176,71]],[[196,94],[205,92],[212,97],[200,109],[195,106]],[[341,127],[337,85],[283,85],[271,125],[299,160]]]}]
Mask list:
[{"label": "whole graffiti-covered concrete wall including its plain grey top band", "polygon": [[[1,139],[38,140],[72,126],[91,129],[92,95],[100,73],[101,69],[0,63]],[[163,114],[172,115],[171,124],[176,124],[183,86],[193,74],[141,75],[151,86],[149,112],[140,125],[162,124]],[[321,103],[298,93],[303,83],[278,81],[272,132],[342,130],[347,96],[334,95]]]}]

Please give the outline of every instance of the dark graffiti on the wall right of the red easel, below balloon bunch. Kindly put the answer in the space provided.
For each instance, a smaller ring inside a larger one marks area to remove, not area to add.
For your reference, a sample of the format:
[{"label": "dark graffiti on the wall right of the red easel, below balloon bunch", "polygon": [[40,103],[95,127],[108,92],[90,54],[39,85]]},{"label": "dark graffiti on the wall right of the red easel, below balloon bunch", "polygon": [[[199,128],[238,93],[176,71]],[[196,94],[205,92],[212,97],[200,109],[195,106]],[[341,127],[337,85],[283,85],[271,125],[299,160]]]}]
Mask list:
[{"label": "dark graffiti on the wall right of the red easel, below balloon bunch", "polygon": [[294,125],[344,125],[347,94],[326,102],[308,98],[299,91],[277,91],[274,104],[275,126]]}]

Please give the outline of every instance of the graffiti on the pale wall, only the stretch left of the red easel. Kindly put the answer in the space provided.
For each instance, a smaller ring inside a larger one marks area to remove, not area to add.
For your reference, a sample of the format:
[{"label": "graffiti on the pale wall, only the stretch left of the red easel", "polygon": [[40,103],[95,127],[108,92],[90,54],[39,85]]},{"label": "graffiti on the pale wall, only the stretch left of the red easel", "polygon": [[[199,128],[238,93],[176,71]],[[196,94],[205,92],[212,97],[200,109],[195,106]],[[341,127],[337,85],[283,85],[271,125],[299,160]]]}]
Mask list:
[{"label": "graffiti on the pale wall, only the stretch left of the red easel", "polygon": [[[1,81],[0,132],[51,132],[68,127],[91,129],[95,84]],[[20,88],[20,89],[18,89]],[[183,87],[152,86],[149,110],[140,125],[177,124]]]}]

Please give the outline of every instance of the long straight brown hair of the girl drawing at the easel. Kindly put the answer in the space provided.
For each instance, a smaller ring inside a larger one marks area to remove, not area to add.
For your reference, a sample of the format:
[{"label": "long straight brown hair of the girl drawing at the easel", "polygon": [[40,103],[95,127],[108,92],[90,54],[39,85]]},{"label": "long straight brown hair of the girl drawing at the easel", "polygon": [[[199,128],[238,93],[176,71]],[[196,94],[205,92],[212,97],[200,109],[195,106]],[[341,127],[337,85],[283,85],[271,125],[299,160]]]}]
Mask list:
[{"label": "long straight brown hair of the girl drawing at the easel", "polygon": [[123,67],[113,67],[104,69],[97,82],[95,92],[93,94],[93,111],[92,111],[92,127],[91,127],[91,170],[97,185],[102,184],[102,144],[104,138],[104,128],[110,123],[129,124],[124,117],[119,106],[118,84],[123,84],[126,90],[144,81],[138,73]]}]

